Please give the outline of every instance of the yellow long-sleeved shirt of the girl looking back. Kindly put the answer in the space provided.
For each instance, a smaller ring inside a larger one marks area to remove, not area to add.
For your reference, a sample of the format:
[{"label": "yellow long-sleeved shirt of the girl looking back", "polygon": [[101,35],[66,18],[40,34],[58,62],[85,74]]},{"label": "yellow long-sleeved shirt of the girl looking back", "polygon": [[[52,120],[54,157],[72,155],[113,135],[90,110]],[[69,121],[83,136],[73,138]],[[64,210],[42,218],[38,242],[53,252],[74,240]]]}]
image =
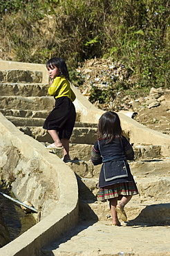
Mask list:
[{"label": "yellow long-sleeved shirt of the girl looking back", "polygon": [[70,88],[70,82],[65,77],[55,77],[53,84],[48,88],[48,94],[54,96],[55,99],[66,96],[73,102],[75,93]]}]

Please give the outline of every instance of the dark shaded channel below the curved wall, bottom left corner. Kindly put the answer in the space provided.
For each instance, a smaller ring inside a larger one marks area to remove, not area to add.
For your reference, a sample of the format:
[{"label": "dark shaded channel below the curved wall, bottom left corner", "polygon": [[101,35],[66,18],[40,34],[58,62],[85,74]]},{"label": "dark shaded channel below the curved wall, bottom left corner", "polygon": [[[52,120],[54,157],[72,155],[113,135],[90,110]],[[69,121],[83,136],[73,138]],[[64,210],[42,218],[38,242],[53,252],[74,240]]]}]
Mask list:
[{"label": "dark shaded channel below the curved wall, bottom left corner", "polygon": [[[0,183],[0,191],[16,199],[3,183]],[[24,212],[21,205],[0,194],[0,247],[19,237],[35,224],[36,221],[31,213]]]}]

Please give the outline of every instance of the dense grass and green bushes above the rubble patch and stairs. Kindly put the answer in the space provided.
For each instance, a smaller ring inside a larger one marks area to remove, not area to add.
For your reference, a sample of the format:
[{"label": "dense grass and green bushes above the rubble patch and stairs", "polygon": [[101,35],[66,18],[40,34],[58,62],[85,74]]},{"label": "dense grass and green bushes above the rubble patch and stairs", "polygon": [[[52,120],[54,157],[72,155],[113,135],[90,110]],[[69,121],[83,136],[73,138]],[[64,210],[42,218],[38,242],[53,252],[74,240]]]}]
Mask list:
[{"label": "dense grass and green bushes above the rubble patch and stairs", "polygon": [[59,56],[75,68],[111,57],[140,88],[169,88],[169,0],[2,0],[0,14],[3,60],[45,64]]}]

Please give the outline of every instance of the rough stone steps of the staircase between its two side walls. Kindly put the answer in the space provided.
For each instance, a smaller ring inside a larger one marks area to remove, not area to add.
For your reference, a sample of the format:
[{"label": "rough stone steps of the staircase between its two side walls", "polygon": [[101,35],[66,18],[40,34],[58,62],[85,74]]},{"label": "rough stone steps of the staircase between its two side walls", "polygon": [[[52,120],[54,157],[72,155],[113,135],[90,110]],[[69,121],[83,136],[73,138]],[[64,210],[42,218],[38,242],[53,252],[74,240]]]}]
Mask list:
[{"label": "rough stone steps of the staircase between its two side walls", "polygon": [[[34,73],[35,81],[40,77],[37,74],[36,78],[36,72]],[[47,84],[42,84],[41,81],[30,82],[26,77],[23,82],[19,75],[13,75],[12,81],[6,78],[6,82],[3,80],[0,83],[1,113],[23,133],[44,145],[53,142],[46,130],[42,129],[54,104],[54,99],[47,95],[47,88]],[[73,136],[70,138],[70,157],[73,161],[66,165],[77,176],[80,219],[110,221],[108,202],[97,201],[97,182],[101,166],[94,167],[90,161],[96,130],[95,123],[79,122],[77,116]],[[140,194],[133,196],[126,205],[129,223],[170,225],[170,159],[162,155],[160,145],[134,144],[133,149],[135,161],[130,166]],[[53,153],[58,154],[55,150]]]}]

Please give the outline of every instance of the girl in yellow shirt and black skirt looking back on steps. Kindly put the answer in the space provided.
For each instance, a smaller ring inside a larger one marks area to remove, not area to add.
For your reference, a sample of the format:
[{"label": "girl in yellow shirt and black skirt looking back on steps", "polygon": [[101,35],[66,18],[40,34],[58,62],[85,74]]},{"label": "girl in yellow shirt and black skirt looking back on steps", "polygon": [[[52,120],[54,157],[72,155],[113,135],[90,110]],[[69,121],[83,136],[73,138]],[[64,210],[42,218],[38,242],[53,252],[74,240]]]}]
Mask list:
[{"label": "girl in yellow shirt and black skirt looking back on steps", "polygon": [[64,161],[70,161],[69,139],[75,125],[75,93],[70,88],[70,77],[64,60],[54,57],[46,63],[52,83],[48,94],[55,98],[55,108],[44,122],[44,129],[53,138],[54,143],[46,149],[64,149]]}]

